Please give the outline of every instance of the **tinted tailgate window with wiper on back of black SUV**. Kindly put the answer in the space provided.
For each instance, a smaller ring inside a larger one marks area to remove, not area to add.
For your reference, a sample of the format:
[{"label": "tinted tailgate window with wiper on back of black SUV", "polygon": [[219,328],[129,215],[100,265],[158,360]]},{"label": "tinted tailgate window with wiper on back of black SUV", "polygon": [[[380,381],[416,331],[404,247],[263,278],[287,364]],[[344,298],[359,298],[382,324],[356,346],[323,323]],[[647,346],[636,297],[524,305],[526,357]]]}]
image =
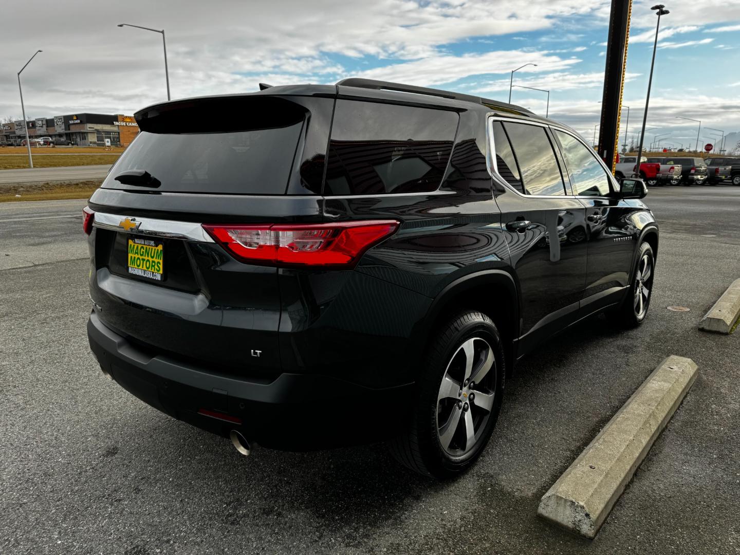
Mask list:
[{"label": "tinted tailgate window with wiper on back of black SUV", "polygon": [[161,182],[149,190],[283,195],[306,121],[303,108],[280,98],[242,98],[218,112],[204,104],[152,110],[103,187],[147,191],[115,181],[122,172],[144,170]]}]

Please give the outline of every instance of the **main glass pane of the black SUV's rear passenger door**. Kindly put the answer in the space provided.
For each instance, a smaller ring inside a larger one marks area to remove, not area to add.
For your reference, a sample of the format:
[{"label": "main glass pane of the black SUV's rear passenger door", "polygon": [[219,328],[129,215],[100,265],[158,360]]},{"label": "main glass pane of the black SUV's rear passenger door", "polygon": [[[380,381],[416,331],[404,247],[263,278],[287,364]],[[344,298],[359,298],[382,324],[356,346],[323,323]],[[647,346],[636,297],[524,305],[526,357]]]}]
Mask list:
[{"label": "main glass pane of the black SUV's rear passenger door", "polygon": [[545,128],[511,121],[502,125],[517,158],[525,194],[565,195],[565,184]]}]

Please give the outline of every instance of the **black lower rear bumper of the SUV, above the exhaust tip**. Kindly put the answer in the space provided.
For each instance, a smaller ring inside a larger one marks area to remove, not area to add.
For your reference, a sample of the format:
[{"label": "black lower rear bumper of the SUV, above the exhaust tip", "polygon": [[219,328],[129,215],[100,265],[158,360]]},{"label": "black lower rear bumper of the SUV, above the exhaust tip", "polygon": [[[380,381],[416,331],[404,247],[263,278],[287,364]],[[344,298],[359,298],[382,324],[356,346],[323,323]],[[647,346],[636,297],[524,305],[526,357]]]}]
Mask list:
[{"label": "black lower rear bumper of the SUV, above the exhaust tip", "polygon": [[307,451],[386,440],[412,404],[413,384],[374,389],[317,374],[256,382],[213,373],[137,349],[95,312],[87,335],[101,368],[135,397],[198,428],[224,437],[237,429],[269,448]]}]

